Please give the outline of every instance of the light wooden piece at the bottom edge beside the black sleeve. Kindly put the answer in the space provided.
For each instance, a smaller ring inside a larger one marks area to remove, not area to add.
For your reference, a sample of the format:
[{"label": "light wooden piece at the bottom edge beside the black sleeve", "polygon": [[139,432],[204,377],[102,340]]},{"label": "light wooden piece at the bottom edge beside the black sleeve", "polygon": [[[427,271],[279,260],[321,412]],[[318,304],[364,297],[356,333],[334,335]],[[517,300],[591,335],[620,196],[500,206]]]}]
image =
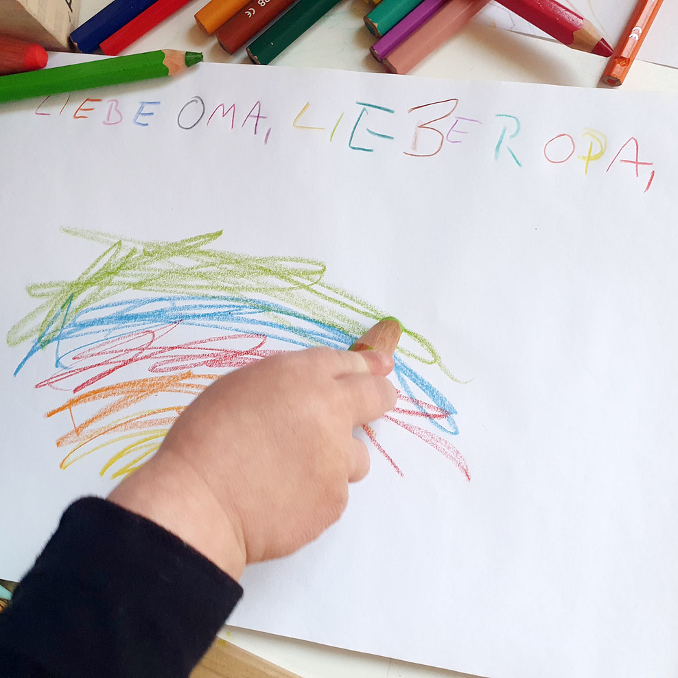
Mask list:
[{"label": "light wooden piece at the bottom edge beside the black sleeve", "polygon": [[301,678],[233,643],[217,638],[191,678]]}]

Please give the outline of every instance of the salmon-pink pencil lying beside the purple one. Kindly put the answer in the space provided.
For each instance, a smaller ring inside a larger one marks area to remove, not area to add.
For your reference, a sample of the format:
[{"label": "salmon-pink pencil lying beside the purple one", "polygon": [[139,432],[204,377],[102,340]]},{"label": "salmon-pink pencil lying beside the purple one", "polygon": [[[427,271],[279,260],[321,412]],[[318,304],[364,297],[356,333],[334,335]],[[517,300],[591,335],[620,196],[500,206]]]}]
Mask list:
[{"label": "salmon-pink pencil lying beside the purple one", "polygon": [[450,0],[384,58],[391,73],[409,73],[487,5],[489,0]]}]

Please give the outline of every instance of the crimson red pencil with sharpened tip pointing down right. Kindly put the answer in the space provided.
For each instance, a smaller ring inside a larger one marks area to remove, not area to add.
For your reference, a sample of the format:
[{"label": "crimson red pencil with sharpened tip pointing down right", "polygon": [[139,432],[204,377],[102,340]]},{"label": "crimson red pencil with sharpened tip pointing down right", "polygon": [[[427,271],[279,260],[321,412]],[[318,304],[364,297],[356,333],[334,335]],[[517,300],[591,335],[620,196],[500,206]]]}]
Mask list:
[{"label": "crimson red pencil with sharpened tip pointing down right", "polygon": [[596,27],[581,14],[555,0],[497,0],[500,5],[529,21],[572,49],[610,56],[612,48]]}]

